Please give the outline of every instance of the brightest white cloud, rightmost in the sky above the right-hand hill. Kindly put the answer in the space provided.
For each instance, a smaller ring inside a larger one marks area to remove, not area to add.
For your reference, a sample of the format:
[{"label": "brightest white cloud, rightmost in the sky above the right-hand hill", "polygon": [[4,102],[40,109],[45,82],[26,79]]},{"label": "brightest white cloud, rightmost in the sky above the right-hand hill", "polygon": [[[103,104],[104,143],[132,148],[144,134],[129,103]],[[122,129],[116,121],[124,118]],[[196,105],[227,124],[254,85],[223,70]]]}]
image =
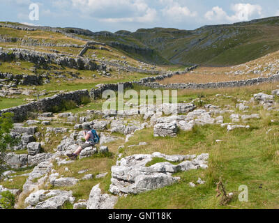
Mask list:
[{"label": "brightest white cloud, rightmost in the sky above the right-hand hill", "polygon": [[223,8],[215,6],[210,11],[206,12],[204,17],[207,20],[215,22],[241,22],[249,20],[254,15],[262,15],[262,7],[259,5],[251,5],[250,3],[237,3],[232,5],[231,8],[234,11],[234,15],[229,16],[223,10]]}]

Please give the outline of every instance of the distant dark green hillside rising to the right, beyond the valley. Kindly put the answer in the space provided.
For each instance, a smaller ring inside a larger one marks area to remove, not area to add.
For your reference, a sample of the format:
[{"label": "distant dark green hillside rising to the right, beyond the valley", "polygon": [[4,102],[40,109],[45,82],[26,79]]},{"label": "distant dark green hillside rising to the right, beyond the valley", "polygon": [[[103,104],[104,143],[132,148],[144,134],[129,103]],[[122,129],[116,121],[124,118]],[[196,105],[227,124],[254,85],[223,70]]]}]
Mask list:
[{"label": "distant dark green hillside rising to the right, beyond the valley", "polygon": [[[118,31],[110,36],[94,33],[103,42],[150,47],[175,64],[231,66],[245,63],[279,49],[279,17],[251,22],[203,26],[193,31],[179,29],[139,29]],[[135,55],[132,55],[135,56]]]}]

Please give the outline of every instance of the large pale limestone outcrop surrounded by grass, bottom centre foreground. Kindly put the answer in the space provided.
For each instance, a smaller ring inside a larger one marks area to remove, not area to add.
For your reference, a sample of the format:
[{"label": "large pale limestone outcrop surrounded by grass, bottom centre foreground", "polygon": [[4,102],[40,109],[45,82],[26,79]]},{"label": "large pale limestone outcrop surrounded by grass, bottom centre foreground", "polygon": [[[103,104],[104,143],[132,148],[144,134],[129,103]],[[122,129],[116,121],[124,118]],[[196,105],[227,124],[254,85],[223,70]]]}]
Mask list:
[{"label": "large pale limestone outcrop surrounded by grass, bottom centre foreground", "polygon": [[[181,163],[174,165],[169,162],[160,162],[146,167],[146,164],[154,157],[164,157],[167,161],[176,160]],[[206,169],[208,158],[208,154],[196,157],[195,155],[164,155],[161,153],[125,157],[117,161],[116,166],[112,167],[110,192],[114,194],[138,194],[172,185],[179,180],[172,174],[190,169]]]}]

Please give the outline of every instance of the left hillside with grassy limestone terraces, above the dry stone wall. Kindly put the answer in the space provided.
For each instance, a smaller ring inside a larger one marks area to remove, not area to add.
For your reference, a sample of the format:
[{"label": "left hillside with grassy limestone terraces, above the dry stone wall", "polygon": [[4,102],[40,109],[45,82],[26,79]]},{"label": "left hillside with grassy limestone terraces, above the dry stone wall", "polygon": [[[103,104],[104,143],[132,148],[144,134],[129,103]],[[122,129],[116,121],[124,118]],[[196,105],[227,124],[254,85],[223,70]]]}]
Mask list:
[{"label": "left hillside with grassy limestone terraces, above the dry stone wall", "polygon": [[165,70],[85,34],[0,22],[0,109],[36,100],[37,95],[135,81]]}]

